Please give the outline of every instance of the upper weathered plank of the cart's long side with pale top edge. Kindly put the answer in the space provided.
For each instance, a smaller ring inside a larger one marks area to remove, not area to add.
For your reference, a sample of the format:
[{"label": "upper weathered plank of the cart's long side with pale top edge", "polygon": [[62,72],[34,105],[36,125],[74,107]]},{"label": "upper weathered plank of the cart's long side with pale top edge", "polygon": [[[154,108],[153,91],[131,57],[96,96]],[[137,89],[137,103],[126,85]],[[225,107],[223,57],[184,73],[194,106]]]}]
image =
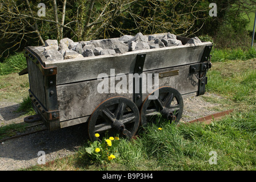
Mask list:
[{"label": "upper weathered plank of the cart's long side with pale top edge", "polygon": [[116,74],[133,73],[136,57],[139,53],[146,53],[143,71],[198,63],[201,61],[205,46],[210,44],[210,42],[205,42],[197,46],[175,46],[126,52],[120,55],[45,61],[45,65],[46,67],[57,66],[57,85],[60,85],[96,79],[100,73],[108,73],[110,69],[115,69]]}]

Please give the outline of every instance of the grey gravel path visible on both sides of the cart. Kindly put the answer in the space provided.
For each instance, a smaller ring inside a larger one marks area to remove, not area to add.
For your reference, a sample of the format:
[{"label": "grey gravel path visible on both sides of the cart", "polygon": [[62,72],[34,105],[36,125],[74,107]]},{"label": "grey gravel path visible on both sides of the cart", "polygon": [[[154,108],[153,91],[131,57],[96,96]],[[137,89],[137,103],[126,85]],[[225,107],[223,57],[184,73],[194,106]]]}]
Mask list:
[{"label": "grey gravel path visible on both sides of the cart", "polygon": [[[210,96],[206,93],[205,96]],[[206,102],[199,97],[186,98],[181,122],[216,113],[218,104]],[[23,122],[22,113],[17,113],[18,104],[0,102],[0,127],[10,123]],[[224,110],[224,109],[223,109]],[[45,152],[46,162],[74,154],[79,146],[87,142],[85,124],[67,127],[57,131],[41,131],[25,137],[0,143],[0,170],[10,171],[34,166],[38,162],[38,152]]]}]

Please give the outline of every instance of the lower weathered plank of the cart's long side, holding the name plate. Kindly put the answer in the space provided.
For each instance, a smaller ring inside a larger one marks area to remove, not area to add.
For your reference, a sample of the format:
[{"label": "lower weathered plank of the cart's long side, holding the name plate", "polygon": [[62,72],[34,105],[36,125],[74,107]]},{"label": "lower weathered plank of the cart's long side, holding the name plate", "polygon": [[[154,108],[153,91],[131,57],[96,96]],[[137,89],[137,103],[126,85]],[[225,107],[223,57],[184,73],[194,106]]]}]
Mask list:
[{"label": "lower weathered plank of the cart's long side, holding the name plate", "polygon": [[[143,73],[154,74],[178,69],[179,75],[159,78],[159,87],[171,86],[177,89],[181,94],[195,93],[198,90],[198,80],[195,78],[195,76],[189,74],[189,67],[190,65],[184,65],[175,68],[158,69],[156,71],[147,71]],[[121,79],[119,79],[120,77],[121,76],[112,77],[112,79],[115,81],[115,86],[121,82]],[[110,78],[109,93],[98,93],[97,86],[102,82],[102,80],[90,80],[76,82],[73,84],[58,85],[57,95],[60,121],[66,121],[90,115],[93,113],[95,107],[111,97],[123,96],[133,100],[133,90],[129,92],[129,86],[133,86],[131,85],[131,82],[133,81],[129,79],[128,75],[126,75],[126,78],[127,90],[126,93],[121,94],[116,93],[117,90],[115,90],[115,93],[110,93]],[[154,89],[157,88],[153,88],[153,90]],[[144,100],[151,92],[152,91],[148,92],[147,90],[146,93],[143,93],[142,99]]]}]

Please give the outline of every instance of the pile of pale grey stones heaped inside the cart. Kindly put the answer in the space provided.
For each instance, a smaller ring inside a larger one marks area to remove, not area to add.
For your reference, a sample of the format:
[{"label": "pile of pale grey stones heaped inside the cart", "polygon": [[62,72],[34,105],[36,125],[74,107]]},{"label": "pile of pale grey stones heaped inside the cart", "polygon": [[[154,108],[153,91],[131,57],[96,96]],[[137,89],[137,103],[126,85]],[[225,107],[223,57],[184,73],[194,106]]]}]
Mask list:
[{"label": "pile of pale grey stones heaped inside the cart", "polygon": [[[197,37],[191,38],[186,44],[201,43]],[[47,60],[66,60],[99,55],[115,55],[129,51],[153,49],[171,46],[182,46],[181,40],[174,34],[153,36],[143,35],[141,32],[135,36],[123,35],[121,38],[102,39],[73,42],[69,38],[62,40],[46,40],[41,51]]]}]

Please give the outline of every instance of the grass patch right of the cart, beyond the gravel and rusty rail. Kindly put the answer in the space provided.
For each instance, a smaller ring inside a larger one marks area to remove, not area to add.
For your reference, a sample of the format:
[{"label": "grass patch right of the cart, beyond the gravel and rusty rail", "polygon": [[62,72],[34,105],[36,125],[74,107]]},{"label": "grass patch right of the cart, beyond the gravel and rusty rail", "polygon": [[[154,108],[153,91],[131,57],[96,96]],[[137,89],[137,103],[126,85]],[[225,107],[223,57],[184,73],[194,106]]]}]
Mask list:
[{"label": "grass patch right of the cart, beyond the gravel and rusty rail", "polygon": [[256,60],[214,63],[209,71],[207,92],[222,94],[239,105],[238,109],[255,109]]}]

